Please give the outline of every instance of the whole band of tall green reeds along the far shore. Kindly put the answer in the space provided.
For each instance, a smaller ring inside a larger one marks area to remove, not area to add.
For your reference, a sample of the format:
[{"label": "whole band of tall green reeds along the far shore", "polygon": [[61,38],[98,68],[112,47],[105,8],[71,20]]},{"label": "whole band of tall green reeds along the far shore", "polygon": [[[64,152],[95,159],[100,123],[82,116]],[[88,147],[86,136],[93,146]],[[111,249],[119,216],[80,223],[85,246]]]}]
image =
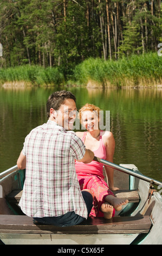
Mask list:
[{"label": "whole band of tall green reeds along the far shore", "polygon": [[148,87],[162,84],[161,70],[162,57],[157,53],[147,53],[117,61],[88,58],[74,67],[69,81],[58,68],[29,65],[1,68],[0,82],[26,81],[41,86]]}]

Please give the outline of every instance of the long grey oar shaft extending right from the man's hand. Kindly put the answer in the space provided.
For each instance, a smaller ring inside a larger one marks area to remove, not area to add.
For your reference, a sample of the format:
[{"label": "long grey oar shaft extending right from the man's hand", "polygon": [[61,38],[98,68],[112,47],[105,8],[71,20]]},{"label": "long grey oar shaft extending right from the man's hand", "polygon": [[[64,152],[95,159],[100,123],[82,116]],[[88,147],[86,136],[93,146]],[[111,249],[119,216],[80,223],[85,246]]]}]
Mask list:
[{"label": "long grey oar shaft extending right from the man's hand", "polygon": [[147,177],[143,174],[133,172],[133,170],[127,169],[125,167],[118,166],[118,164],[108,162],[108,161],[106,161],[104,159],[100,159],[99,157],[96,157],[96,156],[94,157],[93,160],[97,161],[97,162],[100,162],[100,163],[103,163],[106,166],[112,167],[113,169],[120,170],[120,172],[122,172],[122,173],[127,173],[127,174],[132,175],[134,177],[137,177],[141,180],[152,182],[152,184],[157,185],[157,186],[159,186],[159,185],[162,186],[162,183],[160,181],[149,178],[149,177]]}]

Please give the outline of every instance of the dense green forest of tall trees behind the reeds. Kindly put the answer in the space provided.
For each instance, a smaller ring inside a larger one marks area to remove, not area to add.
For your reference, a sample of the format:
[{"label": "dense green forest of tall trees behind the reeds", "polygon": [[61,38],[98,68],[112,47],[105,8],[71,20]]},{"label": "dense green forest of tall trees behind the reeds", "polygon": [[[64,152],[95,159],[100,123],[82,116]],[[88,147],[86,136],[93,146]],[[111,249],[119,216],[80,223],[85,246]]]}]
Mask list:
[{"label": "dense green forest of tall trees behind the reeds", "polygon": [[59,67],[158,51],[160,0],[0,0],[0,67]]}]

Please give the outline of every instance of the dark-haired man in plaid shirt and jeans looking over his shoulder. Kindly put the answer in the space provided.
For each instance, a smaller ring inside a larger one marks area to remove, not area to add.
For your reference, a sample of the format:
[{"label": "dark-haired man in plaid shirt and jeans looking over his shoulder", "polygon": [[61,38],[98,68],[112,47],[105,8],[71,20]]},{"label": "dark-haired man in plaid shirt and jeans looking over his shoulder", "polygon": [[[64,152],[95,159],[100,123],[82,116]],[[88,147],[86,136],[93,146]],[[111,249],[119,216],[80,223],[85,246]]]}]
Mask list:
[{"label": "dark-haired man in plaid shirt and jeans looking over his shoulder", "polygon": [[90,191],[81,192],[75,160],[88,163],[94,153],[85,148],[73,129],[76,118],[75,96],[55,92],[47,101],[48,121],[25,138],[17,160],[26,168],[20,206],[34,220],[59,226],[85,220],[93,206]]}]

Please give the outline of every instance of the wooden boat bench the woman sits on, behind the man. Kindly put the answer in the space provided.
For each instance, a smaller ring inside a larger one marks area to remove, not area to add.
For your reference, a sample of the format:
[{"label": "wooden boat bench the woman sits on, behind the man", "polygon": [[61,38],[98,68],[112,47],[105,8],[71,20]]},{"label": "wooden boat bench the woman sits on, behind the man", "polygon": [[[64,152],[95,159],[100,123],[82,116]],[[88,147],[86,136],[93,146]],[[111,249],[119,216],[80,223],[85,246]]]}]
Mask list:
[{"label": "wooden boat bench the woman sits on, behind the man", "polygon": [[[113,192],[115,197],[127,198],[129,203],[138,203],[140,198],[137,190],[118,190]],[[22,190],[13,190],[8,194],[7,199],[10,203],[19,203],[22,196]]]}]

